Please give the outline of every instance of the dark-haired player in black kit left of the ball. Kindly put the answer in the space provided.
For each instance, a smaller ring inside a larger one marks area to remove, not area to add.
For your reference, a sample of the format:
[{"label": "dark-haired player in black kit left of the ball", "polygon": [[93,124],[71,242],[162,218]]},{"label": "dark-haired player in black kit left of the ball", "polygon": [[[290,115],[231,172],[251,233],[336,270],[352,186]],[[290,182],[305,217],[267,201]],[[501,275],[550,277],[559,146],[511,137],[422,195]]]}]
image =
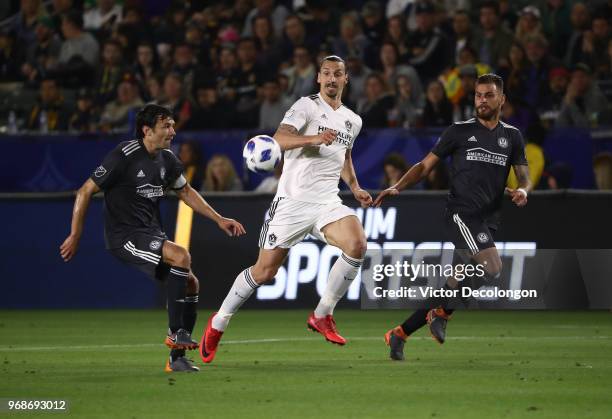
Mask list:
[{"label": "dark-haired player in black kit left of the ball", "polygon": [[183,165],[168,149],[176,135],[172,113],[147,105],[136,115],[136,137],[111,151],[78,190],[70,235],[60,246],[68,262],[75,255],[91,197],[104,191],[104,239],[119,260],[152,278],[166,281],[168,336],[171,349],[166,372],[198,371],[185,357],[196,349],[191,338],[196,322],[199,283],[189,252],[168,240],[161,225],[159,199],[169,190],[193,210],[215,221],[229,236],[245,234],[236,220],[219,215],[185,180]]}]

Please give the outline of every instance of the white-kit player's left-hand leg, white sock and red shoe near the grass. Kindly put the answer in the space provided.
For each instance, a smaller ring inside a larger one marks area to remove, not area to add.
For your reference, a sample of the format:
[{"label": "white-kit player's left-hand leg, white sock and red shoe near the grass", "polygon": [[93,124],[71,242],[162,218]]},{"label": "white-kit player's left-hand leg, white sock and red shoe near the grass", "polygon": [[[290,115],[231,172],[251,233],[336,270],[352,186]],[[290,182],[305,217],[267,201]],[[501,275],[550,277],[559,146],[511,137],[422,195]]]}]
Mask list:
[{"label": "white-kit player's left-hand leg, white sock and red shoe near the grass", "polygon": [[230,319],[261,284],[274,279],[278,268],[287,257],[289,249],[260,249],[255,265],[238,274],[232,288],[221,304],[221,308],[208,319],[206,330],[200,341],[200,357],[209,363],[215,357],[219,341]]}]

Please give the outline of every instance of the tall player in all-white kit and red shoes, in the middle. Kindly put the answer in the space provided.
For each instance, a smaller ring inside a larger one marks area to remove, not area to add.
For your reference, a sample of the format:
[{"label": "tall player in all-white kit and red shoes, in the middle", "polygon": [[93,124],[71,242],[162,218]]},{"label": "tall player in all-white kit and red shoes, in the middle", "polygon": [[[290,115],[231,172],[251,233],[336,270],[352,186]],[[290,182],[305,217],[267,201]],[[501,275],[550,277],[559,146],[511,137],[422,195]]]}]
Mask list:
[{"label": "tall player in all-white kit and red shoes, in the middle", "polygon": [[287,111],[274,138],[285,151],[278,192],[259,238],[255,265],[240,272],[218,312],[208,320],[200,342],[200,356],[208,363],[231,317],[253,292],[272,281],[289,249],[312,234],[342,250],[329,272],[323,296],[307,326],[329,342],[344,345],[333,311],[357,276],[367,242],[359,219],[338,196],[340,178],[363,207],[372,197],[361,189],[351,149],[361,130],[361,118],[342,104],[348,82],[344,60],[332,55],[322,60],[317,75],[318,94],[300,98]]}]

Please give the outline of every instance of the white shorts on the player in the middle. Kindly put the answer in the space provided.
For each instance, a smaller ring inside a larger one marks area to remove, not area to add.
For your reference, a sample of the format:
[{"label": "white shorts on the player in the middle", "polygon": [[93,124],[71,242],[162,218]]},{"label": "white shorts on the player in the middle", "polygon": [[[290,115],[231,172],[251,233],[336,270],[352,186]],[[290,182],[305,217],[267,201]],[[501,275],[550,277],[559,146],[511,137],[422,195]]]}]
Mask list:
[{"label": "white shorts on the player in the middle", "polygon": [[286,197],[275,198],[261,228],[259,247],[289,249],[304,240],[308,234],[327,243],[321,229],[351,215],[354,216],[355,211],[341,202],[314,204]]}]

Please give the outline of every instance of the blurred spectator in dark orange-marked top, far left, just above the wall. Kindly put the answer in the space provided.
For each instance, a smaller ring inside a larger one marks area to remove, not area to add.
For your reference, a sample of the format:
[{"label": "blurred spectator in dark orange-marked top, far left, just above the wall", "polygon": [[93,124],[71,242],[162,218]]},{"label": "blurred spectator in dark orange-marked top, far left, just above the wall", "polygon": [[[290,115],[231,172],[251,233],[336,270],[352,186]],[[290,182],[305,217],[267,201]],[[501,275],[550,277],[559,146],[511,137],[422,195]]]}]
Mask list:
[{"label": "blurred spectator in dark orange-marked top, far left, just above the wall", "polygon": [[69,116],[70,110],[64,103],[57,81],[43,79],[40,82],[40,96],[28,117],[27,129],[42,133],[65,131]]}]

